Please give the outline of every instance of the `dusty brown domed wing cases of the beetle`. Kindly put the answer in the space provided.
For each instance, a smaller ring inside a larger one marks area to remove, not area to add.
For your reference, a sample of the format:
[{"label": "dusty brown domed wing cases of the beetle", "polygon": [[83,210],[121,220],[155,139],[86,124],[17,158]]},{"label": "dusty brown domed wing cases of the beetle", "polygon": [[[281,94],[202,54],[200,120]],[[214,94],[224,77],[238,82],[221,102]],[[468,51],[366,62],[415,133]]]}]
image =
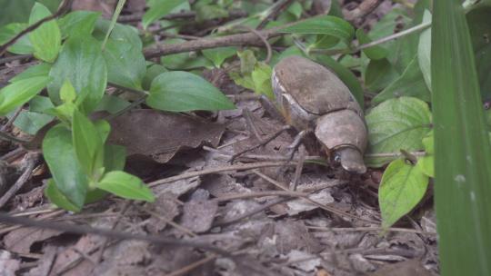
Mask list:
[{"label": "dusty brown domed wing cases of the beetle", "polygon": [[[326,67],[304,57],[289,56],[281,60],[275,66],[273,78],[274,86],[287,91],[309,113],[323,115],[351,109],[362,115],[346,84]],[[282,100],[278,94],[276,99]]]}]

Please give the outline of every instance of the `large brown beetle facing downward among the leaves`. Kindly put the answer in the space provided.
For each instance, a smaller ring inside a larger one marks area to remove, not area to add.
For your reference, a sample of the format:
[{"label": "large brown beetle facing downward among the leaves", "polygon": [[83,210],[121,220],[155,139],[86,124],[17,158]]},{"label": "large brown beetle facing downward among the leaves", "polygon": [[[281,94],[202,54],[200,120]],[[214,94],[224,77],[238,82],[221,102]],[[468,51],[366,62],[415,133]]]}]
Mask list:
[{"label": "large brown beetle facing downward among the leaves", "polygon": [[363,110],[346,84],[321,64],[289,56],[273,68],[276,107],[297,131],[313,132],[331,164],[366,173]]}]

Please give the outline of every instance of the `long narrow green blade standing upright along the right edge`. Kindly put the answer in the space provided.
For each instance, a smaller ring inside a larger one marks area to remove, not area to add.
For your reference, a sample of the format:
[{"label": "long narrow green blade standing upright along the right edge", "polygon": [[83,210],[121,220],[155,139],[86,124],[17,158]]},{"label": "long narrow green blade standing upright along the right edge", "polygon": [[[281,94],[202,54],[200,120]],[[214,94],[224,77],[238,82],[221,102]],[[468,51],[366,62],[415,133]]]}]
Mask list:
[{"label": "long narrow green blade standing upright along the right edge", "polygon": [[436,0],[431,74],[442,275],[491,275],[491,146],[460,0]]}]

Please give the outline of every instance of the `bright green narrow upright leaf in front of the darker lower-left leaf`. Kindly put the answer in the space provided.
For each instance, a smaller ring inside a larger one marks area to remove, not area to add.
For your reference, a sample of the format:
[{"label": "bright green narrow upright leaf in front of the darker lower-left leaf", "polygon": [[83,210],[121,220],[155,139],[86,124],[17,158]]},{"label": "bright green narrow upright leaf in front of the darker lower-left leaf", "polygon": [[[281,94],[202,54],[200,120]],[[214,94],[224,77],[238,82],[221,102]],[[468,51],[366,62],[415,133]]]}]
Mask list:
[{"label": "bright green narrow upright leaf in front of the darker lower-left leaf", "polygon": [[104,167],[104,147],[100,133],[94,123],[75,110],[72,135],[76,158],[91,180],[97,181],[99,170]]}]

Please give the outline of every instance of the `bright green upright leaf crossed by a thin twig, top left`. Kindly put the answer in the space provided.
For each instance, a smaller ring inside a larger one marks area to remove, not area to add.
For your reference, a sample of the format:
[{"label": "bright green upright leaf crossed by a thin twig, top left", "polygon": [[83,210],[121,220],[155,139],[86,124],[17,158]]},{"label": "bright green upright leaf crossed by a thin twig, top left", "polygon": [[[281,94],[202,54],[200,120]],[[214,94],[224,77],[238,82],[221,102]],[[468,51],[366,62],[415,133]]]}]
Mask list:
[{"label": "bright green upright leaf crossed by a thin twig, top left", "polygon": [[[51,12],[45,5],[35,3],[29,17],[29,25],[33,25],[49,15]],[[29,40],[33,45],[36,58],[48,63],[55,61],[61,47],[61,32],[55,20],[45,22],[29,33]]]}]

